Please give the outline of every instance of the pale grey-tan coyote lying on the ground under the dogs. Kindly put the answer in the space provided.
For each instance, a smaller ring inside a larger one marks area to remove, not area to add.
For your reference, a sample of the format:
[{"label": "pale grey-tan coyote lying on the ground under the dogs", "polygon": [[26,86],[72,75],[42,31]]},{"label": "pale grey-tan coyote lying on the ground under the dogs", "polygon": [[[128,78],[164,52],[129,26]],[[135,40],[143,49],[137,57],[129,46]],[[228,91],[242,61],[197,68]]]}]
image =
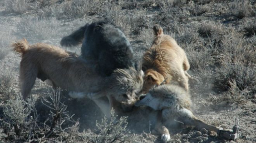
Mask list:
[{"label": "pale grey-tan coyote lying on the ground under the dogs", "polygon": [[[149,106],[158,113],[155,130],[161,134],[163,141],[170,140],[169,130],[166,125],[172,124],[174,120],[184,122],[186,125],[195,126],[199,129],[205,128],[217,132],[219,127],[208,125],[196,118],[191,109],[190,95],[183,88],[177,85],[160,85],[149,90],[143,99],[137,101],[135,106]],[[151,114],[151,113],[149,113]]]}]

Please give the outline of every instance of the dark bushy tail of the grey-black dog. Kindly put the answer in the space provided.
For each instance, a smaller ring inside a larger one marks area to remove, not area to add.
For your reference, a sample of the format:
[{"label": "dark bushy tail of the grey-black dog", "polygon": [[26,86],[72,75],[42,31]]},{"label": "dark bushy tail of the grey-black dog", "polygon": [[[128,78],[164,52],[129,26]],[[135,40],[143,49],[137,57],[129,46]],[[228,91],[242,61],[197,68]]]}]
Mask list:
[{"label": "dark bushy tail of the grey-black dog", "polygon": [[61,39],[61,46],[72,47],[82,44],[83,38],[85,37],[84,33],[87,25],[88,23],[85,24],[83,27],[80,27],[79,29],[75,30],[75,32],[73,32],[72,34],[63,37]]}]

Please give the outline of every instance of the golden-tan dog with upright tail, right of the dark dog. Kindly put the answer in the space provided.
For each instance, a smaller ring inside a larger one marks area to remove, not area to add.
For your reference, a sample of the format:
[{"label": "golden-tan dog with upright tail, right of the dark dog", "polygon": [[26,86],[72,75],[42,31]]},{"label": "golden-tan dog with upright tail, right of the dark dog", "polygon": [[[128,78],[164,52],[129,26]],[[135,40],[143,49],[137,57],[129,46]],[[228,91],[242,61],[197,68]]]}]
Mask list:
[{"label": "golden-tan dog with upright tail, right of the dark dog", "polygon": [[186,91],[189,90],[186,72],[190,65],[186,54],[176,41],[163,33],[160,25],[153,27],[155,39],[152,47],[147,50],[142,60],[142,70],[145,73],[143,91],[147,93],[154,85],[177,81]]}]

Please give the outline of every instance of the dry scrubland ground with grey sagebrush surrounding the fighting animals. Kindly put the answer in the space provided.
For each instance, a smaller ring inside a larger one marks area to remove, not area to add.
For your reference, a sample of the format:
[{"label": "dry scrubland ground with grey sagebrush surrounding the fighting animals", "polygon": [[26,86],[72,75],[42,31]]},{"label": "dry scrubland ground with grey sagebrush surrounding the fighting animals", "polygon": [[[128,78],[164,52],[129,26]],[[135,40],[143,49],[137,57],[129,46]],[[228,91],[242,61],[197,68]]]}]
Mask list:
[{"label": "dry scrubland ground with grey sagebrush surrounding the fighting animals", "polygon": [[[161,142],[144,109],[107,121],[91,100],[71,99],[38,79],[31,98],[21,99],[12,42],[60,46],[63,36],[101,19],[124,31],[138,58],[160,24],[188,56],[194,114],[227,129],[237,118],[236,142],[256,142],[255,0],[1,0],[0,142]],[[62,48],[80,54],[80,47]],[[193,127],[169,130],[170,142],[229,142]]]}]

